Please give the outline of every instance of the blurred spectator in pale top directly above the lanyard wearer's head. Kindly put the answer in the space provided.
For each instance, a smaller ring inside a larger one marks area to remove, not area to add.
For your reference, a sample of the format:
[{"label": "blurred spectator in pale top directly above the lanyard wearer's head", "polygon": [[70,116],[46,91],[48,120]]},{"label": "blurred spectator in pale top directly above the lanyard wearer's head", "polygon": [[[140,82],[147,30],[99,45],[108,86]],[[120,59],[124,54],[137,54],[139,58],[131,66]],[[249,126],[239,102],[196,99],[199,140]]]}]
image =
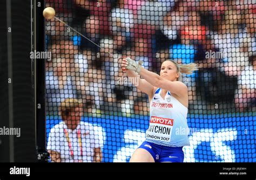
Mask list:
[{"label": "blurred spectator in pale top directly above the lanyard wearer's head", "polygon": [[46,109],[50,112],[56,112],[65,98],[78,97],[78,90],[85,84],[83,78],[88,66],[86,59],[79,60],[78,47],[72,41],[53,42],[55,44],[50,46],[53,59],[46,69]]}]

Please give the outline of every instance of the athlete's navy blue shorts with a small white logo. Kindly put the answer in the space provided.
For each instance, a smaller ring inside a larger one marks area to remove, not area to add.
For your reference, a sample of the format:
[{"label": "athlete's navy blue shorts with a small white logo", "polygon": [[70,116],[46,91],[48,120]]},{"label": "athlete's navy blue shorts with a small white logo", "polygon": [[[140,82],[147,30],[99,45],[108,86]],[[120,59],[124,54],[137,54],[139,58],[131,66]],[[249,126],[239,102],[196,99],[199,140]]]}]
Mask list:
[{"label": "athlete's navy blue shorts with a small white logo", "polygon": [[183,147],[168,147],[144,141],[139,148],[146,149],[153,157],[154,162],[183,162]]}]

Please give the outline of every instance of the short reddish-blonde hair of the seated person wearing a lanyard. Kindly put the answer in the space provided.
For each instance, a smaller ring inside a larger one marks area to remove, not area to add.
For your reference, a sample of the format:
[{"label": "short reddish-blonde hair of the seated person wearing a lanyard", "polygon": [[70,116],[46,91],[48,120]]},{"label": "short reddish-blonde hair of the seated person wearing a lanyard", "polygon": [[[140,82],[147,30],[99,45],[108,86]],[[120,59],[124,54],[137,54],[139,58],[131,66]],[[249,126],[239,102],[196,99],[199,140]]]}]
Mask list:
[{"label": "short reddish-blonde hair of the seated person wearing a lanyard", "polygon": [[68,114],[71,111],[74,111],[76,107],[83,107],[83,104],[78,99],[68,98],[63,100],[59,106],[59,116],[68,116]]}]

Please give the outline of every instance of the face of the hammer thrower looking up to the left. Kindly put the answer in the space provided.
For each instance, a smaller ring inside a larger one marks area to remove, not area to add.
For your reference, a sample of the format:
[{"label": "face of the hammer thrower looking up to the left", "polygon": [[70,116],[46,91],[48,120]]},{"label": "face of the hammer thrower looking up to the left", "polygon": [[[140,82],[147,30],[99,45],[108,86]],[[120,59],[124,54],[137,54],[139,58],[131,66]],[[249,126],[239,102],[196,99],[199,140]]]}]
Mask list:
[{"label": "face of the hammer thrower looking up to the left", "polygon": [[177,81],[179,73],[172,61],[164,61],[161,65],[160,76],[169,81]]}]

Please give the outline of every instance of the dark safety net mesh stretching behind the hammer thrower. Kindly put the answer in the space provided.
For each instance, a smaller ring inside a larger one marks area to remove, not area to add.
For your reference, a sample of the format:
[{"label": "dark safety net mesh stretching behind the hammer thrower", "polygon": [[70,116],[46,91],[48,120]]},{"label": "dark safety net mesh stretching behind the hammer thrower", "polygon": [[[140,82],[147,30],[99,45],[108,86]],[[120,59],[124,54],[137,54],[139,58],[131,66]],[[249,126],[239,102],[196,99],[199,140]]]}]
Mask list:
[{"label": "dark safety net mesh stretching behind the hammer thrower", "polygon": [[[46,132],[51,161],[129,162],[149,99],[118,57],[197,63],[188,87],[184,162],[256,162],[256,4],[242,1],[47,0]],[[107,53],[109,52],[109,53]],[[132,84],[133,83],[133,84]],[[178,129],[184,131],[184,129]]]}]

